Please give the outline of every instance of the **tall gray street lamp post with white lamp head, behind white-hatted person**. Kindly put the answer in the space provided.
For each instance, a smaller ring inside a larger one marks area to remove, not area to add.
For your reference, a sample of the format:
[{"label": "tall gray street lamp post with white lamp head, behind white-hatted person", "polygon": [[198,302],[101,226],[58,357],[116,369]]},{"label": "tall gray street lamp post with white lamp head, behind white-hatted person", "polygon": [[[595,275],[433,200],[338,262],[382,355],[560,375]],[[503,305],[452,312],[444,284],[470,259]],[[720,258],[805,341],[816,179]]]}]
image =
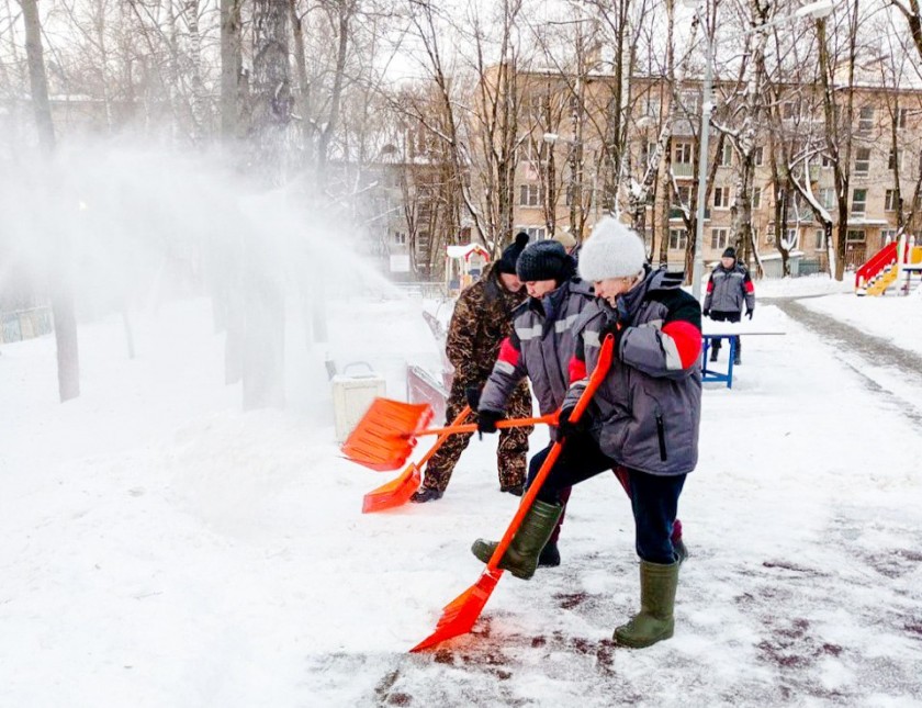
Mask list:
[{"label": "tall gray street lamp post with white lamp head, behind white-hatted person", "polygon": [[[695,8],[698,13],[700,24],[704,27],[705,38],[707,40],[706,57],[705,57],[705,82],[701,88],[701,132],[698,138],[698,204],[697,214],[695,217],[695,260],[692,267],[692,294],[695,300],[701,300],[701,279],[705,270],[705,212],[707,206],[706,192],[708,186],[708,138],[710,135],[710,119],[713,112],[713,98],[711,97],[713,85],[713,38],[707,30],[704,18],[700,14],[699,0],[685,0],[683,3],[686,7]],[[761,32],[768,27],[773,27],[800,18],[810,18],[819,20],[829,16],[835,8],[834,0],[817,0],[798,8],[792,14],[775,18],[771,22],[766,22],[757,27],[753,27],[745,32],[745,35],[753,32]]]}]

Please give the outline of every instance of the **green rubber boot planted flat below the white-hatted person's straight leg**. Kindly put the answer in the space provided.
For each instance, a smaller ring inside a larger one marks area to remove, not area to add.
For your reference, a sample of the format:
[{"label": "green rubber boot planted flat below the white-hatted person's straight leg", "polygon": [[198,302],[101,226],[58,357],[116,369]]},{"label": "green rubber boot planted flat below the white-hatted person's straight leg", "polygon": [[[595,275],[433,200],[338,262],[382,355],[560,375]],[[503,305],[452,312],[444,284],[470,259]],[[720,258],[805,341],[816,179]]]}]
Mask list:
[{"label": "green rubber boot planted flat below the white-hatted person's straight leg", "polygon": [[640,562],[640,613],[615,629],[618,644],[643,649],[673,636],[678,565]]}]

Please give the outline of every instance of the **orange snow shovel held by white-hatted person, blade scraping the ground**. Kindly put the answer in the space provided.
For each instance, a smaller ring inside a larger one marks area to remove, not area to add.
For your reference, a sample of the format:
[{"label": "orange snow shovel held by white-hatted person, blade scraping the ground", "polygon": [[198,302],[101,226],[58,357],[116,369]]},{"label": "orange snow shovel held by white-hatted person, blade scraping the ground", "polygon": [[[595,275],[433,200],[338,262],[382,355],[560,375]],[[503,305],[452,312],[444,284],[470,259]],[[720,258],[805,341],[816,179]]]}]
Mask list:
[{"label": "orange snow shovel held by white-hatted person, blade scraping the ground", "polygon": [[[605,374],[608,373],[608,368],[611,364],[611,349],[614,348],[614,345],[615,338],[611,335],[608,335],[603,342],[595,371],[593,371],[593,375],[589,377],[588,384],[586,385],[585,391],[583,391],[583,395],[580,396],[580,401],[577,402],[573,414],[570,416],[570,420],[572,423],[576,423],[582,417],[586,407],[589,405],[593,395],[605,379]],[[535,481],[531,483],[531,486],[528,487],[528,492],[526,492],[521,499],[521,505],[519,506],[518,512],[516,512],[516,515],[509,522],[509,527],[499,540],[496,551],[494,551],[493,555],[490,558],[490,562],[486,564],[486,567],[477,582],[445,606],[442,616],[439,618],[438,625],[436,625],[436,630],[409,651],[423,651],[424,649],[435,647],[447,639],[460,637],[461,634],[466,634],[471,631],[474,622],[477,621],[477,617],[480,617],[483,611],[486,602],[493,594],[493,588],[496,587],[496,583],[498,583],[499,578],[503,576],[503,570],[499,567],[499,561],[505,554],[506,549],[509,548],[513,537],[516,535],[516,531],[518,531],[521,520],[525,518],[528,509],[531,508],[535,497],[538,496],[538,492],[541,490],[544,479],[550,473],[558,457],[560,457],[562,449],[563,443],[560,441],[554,442],[551,447],[551,451],[548,453],[541,469],[538,470]]]}]

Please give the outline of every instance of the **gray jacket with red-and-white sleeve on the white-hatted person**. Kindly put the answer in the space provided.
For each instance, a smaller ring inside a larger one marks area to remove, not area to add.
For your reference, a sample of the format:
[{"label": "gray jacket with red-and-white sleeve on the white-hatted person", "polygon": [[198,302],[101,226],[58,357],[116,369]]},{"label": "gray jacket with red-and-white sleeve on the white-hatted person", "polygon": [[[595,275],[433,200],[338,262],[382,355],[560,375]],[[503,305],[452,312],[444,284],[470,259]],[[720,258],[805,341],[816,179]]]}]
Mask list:
[{"label": "gray jacket with red-and-white sleeve on the white-hatted person", "polygon": [[593,435],[606,456],[649,474],[685,474],[698,461],[701,308],[681,283],[681,274],[648,271],[617,311],[598,300],[576,324],[574,383],[564,407],[585,387],[576,377],[595,369],[605,335],[617,330],[616,357],[593,398]]}]

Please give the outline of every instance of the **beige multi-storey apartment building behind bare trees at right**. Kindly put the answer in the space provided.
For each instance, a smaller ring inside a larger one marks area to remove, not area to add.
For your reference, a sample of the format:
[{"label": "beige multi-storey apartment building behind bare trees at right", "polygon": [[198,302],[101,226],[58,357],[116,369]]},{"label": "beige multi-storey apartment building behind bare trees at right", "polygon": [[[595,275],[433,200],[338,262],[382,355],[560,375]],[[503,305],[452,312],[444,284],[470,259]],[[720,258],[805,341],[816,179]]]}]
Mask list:
[{"label": "beige multi-storey apartment building behind bare trees at right", "polygon": [[[620,157],[620,175],[606,166],[606,131],[611,128],[614,78],[591,72],[580,80],[548,72],[532,72],[520,81],[521,133],[516,168],[515,223],[536,238],[549,238],[566,229],[583,238],[592,225],[616,203],[622,217],[629,204],[630,182],[639,182],[662,145],[642,224],[651,250],[666,254],[671,267],[685,267],[686,245],[695,238],[689,223],[696,214],[700,83],[687,81],[676,92],[677,101],[662,79],[637,77],[630,83],[627,106],[627,145]],[[713,125],[729,124],[721,114],[721,100],[732,87],[716,87]],[[888,239],[901,225],[914,234],[922,231],[922,90],[886,88],[866,83],[854,90],[851,126],[839,123],[834,148],[825,135],[819,87],[787,87],[791,99],[771,106],[756,126],[752,151],[751,205],[753,241],[767,272],[780,260],[778,246],[795,259],[800,272],[827,268],[828,250],[823,222],[785,175],[792,178],[829,214],[833,237],[840,213],[833,169],[839,153],[848,175],[845,191],[846,252],[854,268]],[[615,104],[617,105],[617,104]],[[666,123],[668,138],[659,143]],[[609,133],[610,135],[611,133]],[[733,223],[741,155],[732,141],[720,139],[711,127],[709,183],[704,223],[704,258],[716,261],[728,245],[734,245]],[[610,143],[609,143],[610,144]],[[806,159],[803,159],[806,157]],[[607,169],[606,169],[607,167]],[[788,170],[790,168],[790,170]],[[777,209],[776,209],[777,205]],[[690,218],[689,218],[690,217]],[[638,224],[638,220],[634,220]],[[780,239],[780,243],[779,243]],[[661,250],[663,241],[665,249]]]}]

